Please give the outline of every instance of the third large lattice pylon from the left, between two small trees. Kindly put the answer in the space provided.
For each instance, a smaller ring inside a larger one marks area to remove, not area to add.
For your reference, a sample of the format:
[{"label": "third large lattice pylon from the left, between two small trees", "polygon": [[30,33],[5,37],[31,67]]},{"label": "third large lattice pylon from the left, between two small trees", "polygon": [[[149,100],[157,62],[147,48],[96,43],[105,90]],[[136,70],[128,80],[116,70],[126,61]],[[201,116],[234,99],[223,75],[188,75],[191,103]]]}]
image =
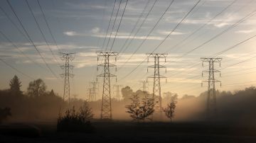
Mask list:
[{"label": "third large lattice pylon from the left, between two small trees", "polygon": [[[148,57],[148,62],[149,62],[149,57],[154,58],[154,65],[149,66],[148,68],[154,68],[154,75],[148,76],[147,78],[153,78],[154,79],[154,84],[153,84],[153,98],[155,102],[155,110],[159,111],[162,113],[162,105],[161,105],[161,78],[166,78],[166,76],[161,76],[160,75],[160,68],[165,68],[165,66],[159,64],[160,58],[164,58],[164,61],[166,62],[166,56],[167,54],[146,54]],[[148,71],[148,69],[147,69]],[[147,79],[146,79],[147,80]]]}]

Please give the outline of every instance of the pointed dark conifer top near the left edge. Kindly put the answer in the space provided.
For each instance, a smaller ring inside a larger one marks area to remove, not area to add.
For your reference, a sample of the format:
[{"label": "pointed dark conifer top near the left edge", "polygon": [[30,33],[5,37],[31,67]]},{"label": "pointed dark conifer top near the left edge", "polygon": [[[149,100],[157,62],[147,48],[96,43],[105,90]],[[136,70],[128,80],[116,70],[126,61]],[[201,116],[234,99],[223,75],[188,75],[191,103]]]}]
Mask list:
[{"label": "pointed dark conifer top near the left edge", "polygon": [[21,95],[22,91],[21,91],[21,81],[18,79],[18,76],[14,76],[13,79],[11,79],[10,81],[10,91],[11,91],[11,95]]}]

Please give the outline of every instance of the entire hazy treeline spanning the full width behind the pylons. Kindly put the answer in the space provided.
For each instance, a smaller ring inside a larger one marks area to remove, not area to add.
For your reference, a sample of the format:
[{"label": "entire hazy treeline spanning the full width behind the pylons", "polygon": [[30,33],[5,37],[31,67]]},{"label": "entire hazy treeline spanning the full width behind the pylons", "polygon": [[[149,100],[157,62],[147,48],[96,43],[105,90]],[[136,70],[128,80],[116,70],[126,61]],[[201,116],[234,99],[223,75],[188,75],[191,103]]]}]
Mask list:
[{"label": "entire hazy treeline spanning the full width behind the pylons", "polygon": [[[63,98],[48,90],[42,79],[31,81],[26,92],[21,91],[22,83],[17,76],[10,80],[10,88],[0,90],[0,108],[11,109],[11,121],[56,121],[59,113],[64,113],[67,108],[80,108],[84,103],[82,99],[72,98],[70,105],[63,102]],[[171,91],[171,88],[170,88]],[[122,88],[122,100],[118,101],[112,96],[112,117],[114,120],[132,120],[127,113],[127,105],[131,105],[130,98],[137,95],[143,99],[150,95],[144,91],[133,91],[126,86]],[[256,88],[249,87],[240,91],[216,91],[217,113],[215,120],[225,122],[255,123],[256,119]],[[100,96],[100,94],[99,94]],[[162,106],[171,106],[171,98],[178,96],[176,93],[166,92],[162,95]],[[86,96],[85,96],[86,97]],[[198,96],[178,96],[175,112],[172,118],[177,121],[205,121],[206,120],[207,91]],[[89,103],[94,118],[100,118],[101,100]],[[6,113],[8,114],[8,113]],[[169,122],[169,118],[164,118]]]}]

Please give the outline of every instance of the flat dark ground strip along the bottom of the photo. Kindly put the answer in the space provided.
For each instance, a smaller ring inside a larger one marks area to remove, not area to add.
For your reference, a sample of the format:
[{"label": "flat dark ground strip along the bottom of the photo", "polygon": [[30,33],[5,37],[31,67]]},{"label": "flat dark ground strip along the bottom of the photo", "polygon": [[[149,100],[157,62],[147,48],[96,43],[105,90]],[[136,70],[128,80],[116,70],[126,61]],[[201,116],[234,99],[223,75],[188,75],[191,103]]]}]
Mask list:
[{"label": "flat dark ground strip along the bottom of the photo", "polygon": [[92,122],[95,132],[56,132],[55,122],[0,126],[1,142],[256,142],[256,127],[226,122]]}]

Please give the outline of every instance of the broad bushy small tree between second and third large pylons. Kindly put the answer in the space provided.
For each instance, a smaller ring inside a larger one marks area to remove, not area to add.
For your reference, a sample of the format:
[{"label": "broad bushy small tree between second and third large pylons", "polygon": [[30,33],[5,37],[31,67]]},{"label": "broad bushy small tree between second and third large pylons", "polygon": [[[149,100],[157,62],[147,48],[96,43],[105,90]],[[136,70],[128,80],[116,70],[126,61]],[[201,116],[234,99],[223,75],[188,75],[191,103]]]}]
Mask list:
[{"label": "broad bushy small tree between second and third large pylons", "polygon": [[127,113],[130,114],[130,117],[137,122],[139,122],[139,120],[145,121],[145,119],[148,119],[149,115],[154,113],[154,98],[146,96],[142,99],[142,103],[140,103],[139,95],[134,94],[130,100],[132,103],[125,106],[125,108],[127,108]]}]

